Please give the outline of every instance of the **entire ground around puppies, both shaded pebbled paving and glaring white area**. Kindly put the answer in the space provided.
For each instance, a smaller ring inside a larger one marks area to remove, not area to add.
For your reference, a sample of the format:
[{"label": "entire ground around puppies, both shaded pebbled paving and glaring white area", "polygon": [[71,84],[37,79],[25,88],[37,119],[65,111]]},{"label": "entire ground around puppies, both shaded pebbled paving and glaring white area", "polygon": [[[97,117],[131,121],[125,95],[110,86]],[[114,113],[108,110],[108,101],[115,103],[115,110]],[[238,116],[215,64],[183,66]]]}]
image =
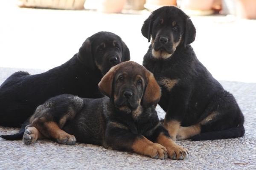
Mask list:
[{"label": "entire ground around puppies, both shaded pebbled paving and glaring white area", "polygon": [[[0,1],[0,84],[15,71],[38,74],[61,65],[98,31],[122,37],[131,60],[140,64],[149,45],[140,33],[148,11],[101,14],[18,8],[14,4],[15,0]],[[245,116],[244,137],[179,141],[190,153],[185,161],[155,160],[91,144],[66,146],[39,140],[25,145],[0,139],[0,169],[256,169],[256,20],[194,16],[192,21],[197,28],[192,46],[212,75],[236,97]],[[157,112],[164,117],[160,107]],[[17,130],[0,127],[0,134]]]}]

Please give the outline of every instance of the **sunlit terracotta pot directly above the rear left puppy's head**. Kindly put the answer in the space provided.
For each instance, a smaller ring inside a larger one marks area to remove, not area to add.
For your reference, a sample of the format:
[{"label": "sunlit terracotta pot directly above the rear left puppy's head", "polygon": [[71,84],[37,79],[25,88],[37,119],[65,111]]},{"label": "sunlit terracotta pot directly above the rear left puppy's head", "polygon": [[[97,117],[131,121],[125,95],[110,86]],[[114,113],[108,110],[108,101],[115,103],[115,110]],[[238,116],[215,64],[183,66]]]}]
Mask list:
[{"label": "sunlit terracotta pot directly above the rear left puppy's head", "polygon": [[121,13],[126,0],[100,0],[97,11],[105,13]]}]

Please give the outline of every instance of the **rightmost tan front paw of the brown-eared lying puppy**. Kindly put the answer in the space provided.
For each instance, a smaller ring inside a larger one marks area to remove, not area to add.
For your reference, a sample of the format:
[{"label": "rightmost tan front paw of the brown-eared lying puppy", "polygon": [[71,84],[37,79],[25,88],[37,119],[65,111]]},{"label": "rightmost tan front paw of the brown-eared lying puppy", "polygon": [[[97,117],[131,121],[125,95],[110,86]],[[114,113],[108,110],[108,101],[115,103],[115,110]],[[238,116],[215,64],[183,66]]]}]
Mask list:
[{"label": "rightmost tan front paw of the brown-eared lying puppy", "polygon": [[171,159],[184,160],[189,158],[188,150],[179,145],[167,147],[166,149],[168,150],[168,154]]}]

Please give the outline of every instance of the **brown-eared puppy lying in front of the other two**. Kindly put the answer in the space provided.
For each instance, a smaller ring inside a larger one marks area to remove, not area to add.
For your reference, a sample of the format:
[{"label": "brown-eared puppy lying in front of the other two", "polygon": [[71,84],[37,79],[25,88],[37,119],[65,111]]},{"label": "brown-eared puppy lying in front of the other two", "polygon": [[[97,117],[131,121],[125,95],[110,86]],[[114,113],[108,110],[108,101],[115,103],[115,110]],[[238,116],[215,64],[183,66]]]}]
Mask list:
[{"label": "brown-eared puppy lying in front of the other two", "polygon": [[155,159],[185,159],[188,152],[170,138],[155,106],[160,87],[153,74],[136,62],[114,66],[99,82],[108,97],[87,99],[63,94],[38,106],[26,126],[25,144],[50,138],[135,152]]}]

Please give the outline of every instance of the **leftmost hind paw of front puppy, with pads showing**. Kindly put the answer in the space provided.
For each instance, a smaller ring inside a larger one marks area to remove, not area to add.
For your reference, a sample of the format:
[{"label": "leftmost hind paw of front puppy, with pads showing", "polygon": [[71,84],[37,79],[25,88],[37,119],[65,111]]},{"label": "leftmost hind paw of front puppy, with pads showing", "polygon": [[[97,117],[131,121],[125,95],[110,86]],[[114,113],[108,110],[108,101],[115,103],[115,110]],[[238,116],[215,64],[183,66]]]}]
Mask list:
[{"label": "leftmost hind paw of front puppy, with pads showing", "polygon": [[25,127],[25,132],[23,134],[23,142],[25,144],[32,144],[37,141],[37,139],[44,139],[45,136],[40,133],[37,128],[32,125],[27,125]]}]

